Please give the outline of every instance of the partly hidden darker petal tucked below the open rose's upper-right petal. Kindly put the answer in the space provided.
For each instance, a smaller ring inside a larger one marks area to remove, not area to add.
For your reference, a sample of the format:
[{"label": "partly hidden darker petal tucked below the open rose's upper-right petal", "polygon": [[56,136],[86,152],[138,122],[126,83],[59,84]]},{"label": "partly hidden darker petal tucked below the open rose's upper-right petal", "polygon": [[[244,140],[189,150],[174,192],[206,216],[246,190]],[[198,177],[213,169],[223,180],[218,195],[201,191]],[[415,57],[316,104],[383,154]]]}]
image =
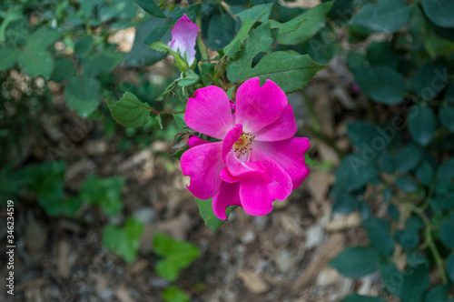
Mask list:
[{"label": "partly hidden darker petal tucked below the open rose's upper-right petal", "polygon": [[277,141],[291,138],[296,134],[297,126],[291,105],[282,112],[282,116],[269,126],[254,133],[256,141]]}]

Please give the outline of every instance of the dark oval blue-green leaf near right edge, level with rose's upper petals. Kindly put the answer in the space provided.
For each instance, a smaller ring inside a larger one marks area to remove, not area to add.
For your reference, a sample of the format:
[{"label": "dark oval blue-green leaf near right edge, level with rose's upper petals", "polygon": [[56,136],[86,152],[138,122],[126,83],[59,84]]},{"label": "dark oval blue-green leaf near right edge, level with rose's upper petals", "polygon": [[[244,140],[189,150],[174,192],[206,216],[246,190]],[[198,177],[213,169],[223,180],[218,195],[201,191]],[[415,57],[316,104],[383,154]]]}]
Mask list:
[{"label": "dark oval blue-green leaf near right edge, level with rose's upper petals", "polygon": [[410,135],[422,146],[430,143],[435,135],[436,119],[432,109],[426,105],[413,105],[408,116]]}]

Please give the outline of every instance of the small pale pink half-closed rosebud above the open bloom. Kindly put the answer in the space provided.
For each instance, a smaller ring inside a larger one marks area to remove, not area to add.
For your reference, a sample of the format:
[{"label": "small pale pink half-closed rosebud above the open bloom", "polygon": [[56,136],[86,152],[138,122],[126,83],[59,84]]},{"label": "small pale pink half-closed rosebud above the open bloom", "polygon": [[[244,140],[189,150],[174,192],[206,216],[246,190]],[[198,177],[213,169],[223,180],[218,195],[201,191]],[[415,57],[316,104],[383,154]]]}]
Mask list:
[{"label": "small pale pink half-closed rosebud above the open bloom", "polygon": [[180,52],[190,66],[195,59],[195,39],[199,30],[199,26],[193,23],[186,14],[183,14],[172,28],[172,41],[169,42],[169,47],[174,52]]}]

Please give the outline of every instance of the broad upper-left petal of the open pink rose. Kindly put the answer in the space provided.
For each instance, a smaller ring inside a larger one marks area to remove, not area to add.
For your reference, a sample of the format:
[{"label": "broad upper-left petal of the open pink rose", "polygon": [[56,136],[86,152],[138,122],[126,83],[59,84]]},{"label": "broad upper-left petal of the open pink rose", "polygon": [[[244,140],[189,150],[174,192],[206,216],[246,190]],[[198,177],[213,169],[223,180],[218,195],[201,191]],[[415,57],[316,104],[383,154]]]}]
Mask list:
[{"label": "broad upper-left petal of the open pink rose", "polygon": [[184,121],[195,131],[223,139],[233,126],[229,97],[217,86],[197,89],[188,100]]}]

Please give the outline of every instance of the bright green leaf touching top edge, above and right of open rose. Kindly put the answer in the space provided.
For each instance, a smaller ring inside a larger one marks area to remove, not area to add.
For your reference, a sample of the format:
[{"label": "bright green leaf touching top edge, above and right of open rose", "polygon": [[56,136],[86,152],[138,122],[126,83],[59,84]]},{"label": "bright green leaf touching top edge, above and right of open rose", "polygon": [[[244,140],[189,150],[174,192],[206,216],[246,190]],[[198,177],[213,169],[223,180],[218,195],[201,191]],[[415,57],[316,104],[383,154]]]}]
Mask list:
[{"label": "bright green leaf touching top edge, above and right of open rose", "polygon": [[332,4],[331,1],[314,6],[293,18],[291,23],[299,26],[288,34],[281,35],[281,31],[280,37],[278,37],[279,43],[281,45],[299,45],[309,40],[325,25],[326,15],[330,12]]}]

